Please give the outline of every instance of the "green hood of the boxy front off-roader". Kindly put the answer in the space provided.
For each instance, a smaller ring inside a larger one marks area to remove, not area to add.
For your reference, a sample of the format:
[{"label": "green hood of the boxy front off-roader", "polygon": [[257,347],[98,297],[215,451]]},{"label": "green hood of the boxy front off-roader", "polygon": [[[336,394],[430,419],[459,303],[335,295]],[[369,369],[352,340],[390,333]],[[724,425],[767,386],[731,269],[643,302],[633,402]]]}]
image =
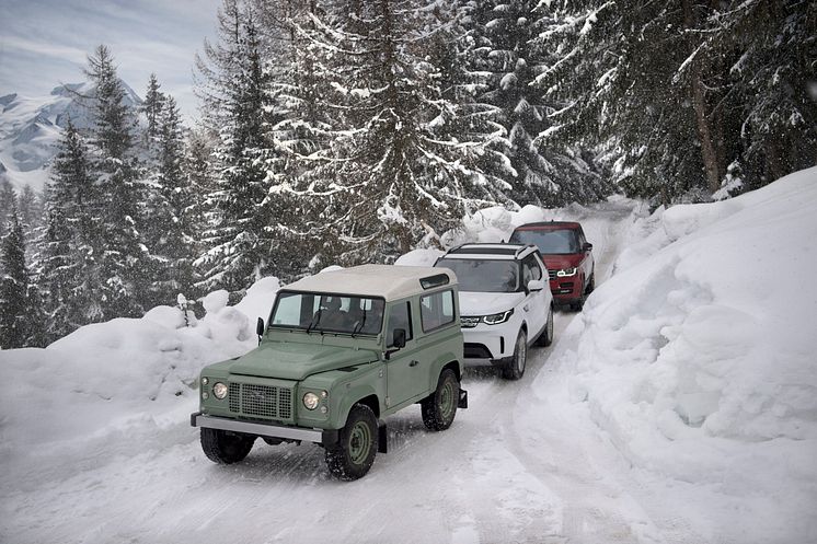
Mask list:
[{"label": "green hood of the boxy front off-roader", "polygon": [[230,364],[232,374],[303,380],[308,375],[376,361],[378,354],[369,349],[266,342]]}]

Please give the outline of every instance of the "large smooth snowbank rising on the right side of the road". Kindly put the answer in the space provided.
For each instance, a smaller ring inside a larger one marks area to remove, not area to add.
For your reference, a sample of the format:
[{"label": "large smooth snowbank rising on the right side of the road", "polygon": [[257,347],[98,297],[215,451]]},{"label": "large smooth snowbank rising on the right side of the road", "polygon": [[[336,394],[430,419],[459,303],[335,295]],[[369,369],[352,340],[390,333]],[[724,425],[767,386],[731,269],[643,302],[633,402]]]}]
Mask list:
[{"label": "large smooth snowbank rising on the right side of the road", "polygon": [[567,332],[573,400],[634,466],[739,499],[737,536],[814,542],[817,169],[631,230]]}]

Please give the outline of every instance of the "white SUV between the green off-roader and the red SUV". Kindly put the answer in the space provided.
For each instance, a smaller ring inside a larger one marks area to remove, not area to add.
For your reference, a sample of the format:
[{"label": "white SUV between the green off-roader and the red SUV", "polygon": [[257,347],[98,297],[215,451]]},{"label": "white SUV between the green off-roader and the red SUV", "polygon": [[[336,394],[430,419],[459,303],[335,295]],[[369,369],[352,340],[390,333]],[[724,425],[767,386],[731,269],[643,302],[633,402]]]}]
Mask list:
[{"label": "white SUV between the green off-roader and the red SUV", "polygon": [[502,368],[503,378],[525,373],[528,346],[553,342],[553,296],[534,245],[465,244],[434,265],[450,268],[460,283],[465,363]]}]

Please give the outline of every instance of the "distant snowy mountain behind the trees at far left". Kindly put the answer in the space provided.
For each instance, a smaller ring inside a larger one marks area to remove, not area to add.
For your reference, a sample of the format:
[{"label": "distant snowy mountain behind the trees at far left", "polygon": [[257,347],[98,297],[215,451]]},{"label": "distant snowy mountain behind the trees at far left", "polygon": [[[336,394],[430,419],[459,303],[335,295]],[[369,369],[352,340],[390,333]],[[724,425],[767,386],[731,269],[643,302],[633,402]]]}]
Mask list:
[{"label": "distant snowy mountain behind the trees at far left", "polygon": [[[123,85],[125,103],[141,104],[136,92]],[[18,189],[25,184],[42,189],[69,116],[78,128],[91,126],[87,104],[93,95],[92,84],[72,83],[55,88],[48,96],[0,96],[0,173],[4,171]]]}]

